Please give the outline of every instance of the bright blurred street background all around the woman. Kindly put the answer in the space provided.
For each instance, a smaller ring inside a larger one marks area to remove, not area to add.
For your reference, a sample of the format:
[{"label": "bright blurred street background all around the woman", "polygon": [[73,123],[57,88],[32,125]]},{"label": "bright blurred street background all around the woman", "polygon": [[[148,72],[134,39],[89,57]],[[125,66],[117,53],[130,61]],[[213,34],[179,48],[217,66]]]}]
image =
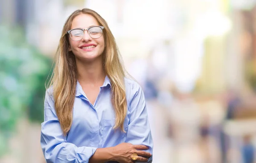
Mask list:
[{"label": "bright blurred street background all around the woman", "polygon": [[154,163],[256,163],[256,0],[0,0],[0,163],[45,163],[44,83],[84,7],[143,87]]}]

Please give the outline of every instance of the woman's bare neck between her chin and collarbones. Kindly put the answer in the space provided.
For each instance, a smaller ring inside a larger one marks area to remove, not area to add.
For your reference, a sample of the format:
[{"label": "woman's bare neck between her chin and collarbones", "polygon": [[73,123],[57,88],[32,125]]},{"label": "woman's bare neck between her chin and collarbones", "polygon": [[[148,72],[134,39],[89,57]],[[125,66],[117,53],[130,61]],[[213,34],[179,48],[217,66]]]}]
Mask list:
[{"label": "woman's bare neck between her chin and collarbones", "polygon": [[102,85],[106,74],[103,68],[102,57],[93,62],[84,62],[76,58],[78,80],[81,84]]}]

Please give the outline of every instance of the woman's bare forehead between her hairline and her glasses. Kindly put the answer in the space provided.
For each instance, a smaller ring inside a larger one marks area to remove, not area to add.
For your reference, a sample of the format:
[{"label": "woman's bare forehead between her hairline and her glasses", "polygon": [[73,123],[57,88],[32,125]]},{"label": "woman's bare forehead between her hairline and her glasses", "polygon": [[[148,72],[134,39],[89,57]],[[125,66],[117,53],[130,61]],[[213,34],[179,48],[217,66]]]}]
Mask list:
[{"label": "woman's bare forehead between her hairline and her glasses", "polygon": [[80,14],[73,19],[71,24],[71,29],[74,29],[74,28],[87,29],[90,26],[99,26],[99,23],[90,14]]}]

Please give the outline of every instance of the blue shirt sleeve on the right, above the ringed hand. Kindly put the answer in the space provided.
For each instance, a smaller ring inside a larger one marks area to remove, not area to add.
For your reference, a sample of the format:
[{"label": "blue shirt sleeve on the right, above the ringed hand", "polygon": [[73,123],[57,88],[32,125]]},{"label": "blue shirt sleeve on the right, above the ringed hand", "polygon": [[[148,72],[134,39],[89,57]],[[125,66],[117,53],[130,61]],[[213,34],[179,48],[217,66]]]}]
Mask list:
[{"label": "blue shirt sleeve on the right, above the ringed hand", "polygon": [[[139,84],[136,83],[131,89],[130,99],[130,121],[125,142],[134,145],[142,144],[148,146],[149,149],[145,151],[151,153],[152,156],[148,159],[147,163],[151,163],[153,157],[153,140],[148,122],[145,97]],[[140,161],[136,161],[136,163],[140,163]]]}]

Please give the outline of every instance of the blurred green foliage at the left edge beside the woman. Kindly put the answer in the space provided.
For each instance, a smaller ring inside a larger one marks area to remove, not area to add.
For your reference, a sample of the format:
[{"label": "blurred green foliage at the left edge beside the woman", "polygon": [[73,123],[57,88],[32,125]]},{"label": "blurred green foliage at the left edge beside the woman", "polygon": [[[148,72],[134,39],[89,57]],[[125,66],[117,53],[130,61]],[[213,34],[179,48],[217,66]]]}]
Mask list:
[{"label": "blurred green foliage at the left edge beside the woman", "polygon": [[52,60],[26,42],[23,29],[0,26],[0,156],[19,118],[44,120],[45,80]]}]

